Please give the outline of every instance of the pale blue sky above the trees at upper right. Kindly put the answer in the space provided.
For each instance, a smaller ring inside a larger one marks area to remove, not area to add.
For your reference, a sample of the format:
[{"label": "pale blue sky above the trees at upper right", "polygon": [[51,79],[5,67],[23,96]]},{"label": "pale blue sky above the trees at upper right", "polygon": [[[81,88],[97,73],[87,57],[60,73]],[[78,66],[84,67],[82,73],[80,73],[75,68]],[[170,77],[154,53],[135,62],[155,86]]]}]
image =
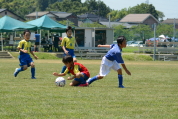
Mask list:
[{"label": "pale blue sky above the trees at upper right", "polygon": [[[85,2],[85,0],[81,0]],[[98,0],[96,0],[98,1]],[[141,3],[153,4],[156,10],[164,13],[166,20],[167,18],[178,18],[178,0],[101,0],[107,6],[114,10],[121,10],[123,8],[129,8],[136,6]]]}]

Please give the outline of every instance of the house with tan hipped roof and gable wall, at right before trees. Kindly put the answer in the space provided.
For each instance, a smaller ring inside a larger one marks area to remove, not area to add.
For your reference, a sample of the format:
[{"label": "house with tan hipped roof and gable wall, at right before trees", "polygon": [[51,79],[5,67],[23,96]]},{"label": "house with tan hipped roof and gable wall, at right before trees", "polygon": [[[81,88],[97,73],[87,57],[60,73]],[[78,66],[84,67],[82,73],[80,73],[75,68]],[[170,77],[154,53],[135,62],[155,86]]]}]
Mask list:
[{"label": "house with tan hipped roof and gable wall, at right before trees", "polygon": [[154,23],[159,24],[159,21],[151,14],[128,14],[119,22],[137,25],[150,25],[151,28],[154,28]]}]

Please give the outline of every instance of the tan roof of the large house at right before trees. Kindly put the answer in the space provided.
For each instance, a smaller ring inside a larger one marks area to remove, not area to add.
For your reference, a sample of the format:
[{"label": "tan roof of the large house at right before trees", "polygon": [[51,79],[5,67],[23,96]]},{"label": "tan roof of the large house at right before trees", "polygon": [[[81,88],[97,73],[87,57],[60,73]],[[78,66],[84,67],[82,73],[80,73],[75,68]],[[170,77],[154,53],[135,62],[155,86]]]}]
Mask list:
[{"label": "tan roof of the large house at right before trees", "polygon": [[120,20],[120,22],[127,23],[143,23],[148,17],[152,17],[157,22],[159,22],[153,15],[151,14],[128,14],[124,18]]}]

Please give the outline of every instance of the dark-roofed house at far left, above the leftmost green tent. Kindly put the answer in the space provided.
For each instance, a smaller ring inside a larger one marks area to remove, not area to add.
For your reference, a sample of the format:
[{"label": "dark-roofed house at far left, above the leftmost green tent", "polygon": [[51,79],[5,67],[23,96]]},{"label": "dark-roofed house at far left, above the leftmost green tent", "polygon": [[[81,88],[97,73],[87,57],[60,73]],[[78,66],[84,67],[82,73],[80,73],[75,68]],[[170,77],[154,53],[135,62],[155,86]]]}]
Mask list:
[{"label": "dark-roofed house at far left, above the leftmost green tent", "polygon": [[24,18],[18,16],[17,14],[13,13],[12,11],[8,10],[8,9],[0,9],[0,18],[3,16],[9,16],[12,17],[14,19],[17,19],[19,21],[25,21]]}]

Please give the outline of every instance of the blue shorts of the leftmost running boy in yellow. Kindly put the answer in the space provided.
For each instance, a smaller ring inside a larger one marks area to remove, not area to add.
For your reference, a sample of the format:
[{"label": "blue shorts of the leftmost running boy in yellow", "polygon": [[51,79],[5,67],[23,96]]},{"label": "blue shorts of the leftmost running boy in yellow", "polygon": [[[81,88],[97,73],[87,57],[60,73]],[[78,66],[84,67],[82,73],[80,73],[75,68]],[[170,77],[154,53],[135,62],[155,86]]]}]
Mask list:
[{"label": "blue shorts of the leftmost running boy in yellow", "polygon": [[29,54],[23,54],[19,56],[19,62],[20,62],[20,66],[24,66],[27,65],[28,67],[30,66],[30,63],[33,62],[33,59],[30,57]]}]

